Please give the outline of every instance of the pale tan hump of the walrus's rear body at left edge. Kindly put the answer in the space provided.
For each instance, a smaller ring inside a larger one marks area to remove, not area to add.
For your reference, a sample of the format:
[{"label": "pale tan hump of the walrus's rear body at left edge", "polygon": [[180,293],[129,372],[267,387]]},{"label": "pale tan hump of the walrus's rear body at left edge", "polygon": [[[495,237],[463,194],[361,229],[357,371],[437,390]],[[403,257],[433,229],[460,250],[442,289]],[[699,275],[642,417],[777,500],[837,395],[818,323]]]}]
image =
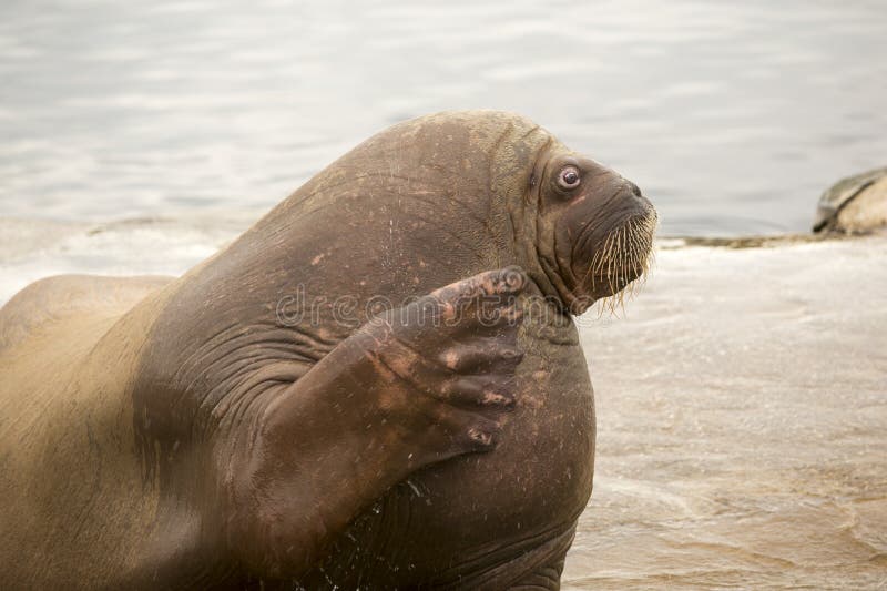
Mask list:
[{"label": "pale tan hump of the walrus's rear body at left edge", "polygon": [[75,314],[122,314],[173,277],[57,275],[39,279],[0,308],[0,349],[21,343],[35,329]]}]

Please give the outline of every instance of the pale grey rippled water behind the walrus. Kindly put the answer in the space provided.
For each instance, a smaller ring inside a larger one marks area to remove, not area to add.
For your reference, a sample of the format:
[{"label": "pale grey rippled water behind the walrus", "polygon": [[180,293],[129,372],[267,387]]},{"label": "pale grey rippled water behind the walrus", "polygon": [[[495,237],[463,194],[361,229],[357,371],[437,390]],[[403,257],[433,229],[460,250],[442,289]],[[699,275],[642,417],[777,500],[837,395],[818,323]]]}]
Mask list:
[{"label": "pale grey rippled water behind the walrus", "polygon": [[809,227],[887,164],[887,2],[4,0],[0,215],[258,215],[422,113],[529,115],[662,231]]}]

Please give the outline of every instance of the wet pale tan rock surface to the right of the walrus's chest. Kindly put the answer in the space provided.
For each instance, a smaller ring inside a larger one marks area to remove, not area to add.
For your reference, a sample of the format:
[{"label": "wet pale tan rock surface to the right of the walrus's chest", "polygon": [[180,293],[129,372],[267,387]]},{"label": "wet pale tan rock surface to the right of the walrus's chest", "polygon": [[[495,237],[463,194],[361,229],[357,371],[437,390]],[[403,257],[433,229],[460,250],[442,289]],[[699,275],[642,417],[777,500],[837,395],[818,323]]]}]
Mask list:
[{"label": "wet pale tan rock surface to the right of the walrus's chest", "polygon": [[887,583],[887,240],[669,248],[583,323],[592,501],[565,589]]}]

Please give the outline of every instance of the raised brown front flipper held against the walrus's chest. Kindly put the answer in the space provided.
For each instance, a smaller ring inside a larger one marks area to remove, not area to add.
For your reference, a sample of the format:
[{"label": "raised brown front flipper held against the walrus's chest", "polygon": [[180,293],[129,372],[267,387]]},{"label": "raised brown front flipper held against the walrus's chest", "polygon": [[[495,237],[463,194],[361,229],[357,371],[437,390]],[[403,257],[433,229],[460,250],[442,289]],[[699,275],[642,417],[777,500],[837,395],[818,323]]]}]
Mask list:
[{"label": "raised brown front flipper held against the walrus's chest", "polygon": [[293,578],[424,466],[496,445],[521,360],[512,267],[388,312],[288,386],[220,450],[225,544],[258,578]]}]

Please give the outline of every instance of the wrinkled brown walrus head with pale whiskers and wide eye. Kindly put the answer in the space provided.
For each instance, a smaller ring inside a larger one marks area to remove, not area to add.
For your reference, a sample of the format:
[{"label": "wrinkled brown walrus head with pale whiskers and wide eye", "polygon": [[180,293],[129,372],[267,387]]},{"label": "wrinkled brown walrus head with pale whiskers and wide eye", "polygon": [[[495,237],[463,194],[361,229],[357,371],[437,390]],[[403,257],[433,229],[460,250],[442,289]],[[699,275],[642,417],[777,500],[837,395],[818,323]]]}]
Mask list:
[{"label": "wrinkled brown walrus head with pale whiskers and wide eye", "polygon": [[529,191],[539,259],[565,307],[620,303],[646,273],[657,222],[638,185],[558,144],[542,150]]}]

